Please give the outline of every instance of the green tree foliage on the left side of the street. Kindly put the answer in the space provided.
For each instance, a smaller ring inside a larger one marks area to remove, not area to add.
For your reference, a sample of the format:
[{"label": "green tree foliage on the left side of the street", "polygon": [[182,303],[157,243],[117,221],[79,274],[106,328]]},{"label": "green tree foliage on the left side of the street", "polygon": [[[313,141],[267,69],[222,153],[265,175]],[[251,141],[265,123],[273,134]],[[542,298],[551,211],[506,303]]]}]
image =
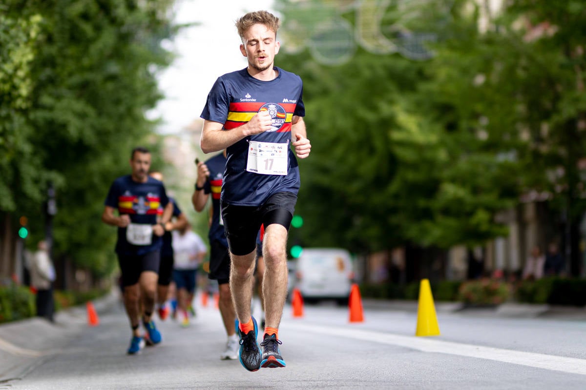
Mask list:
[{"label": "green tree foliage on the left side of the street", "polygon": [[[101,223],[103,202],[114,178],[128,173],[132,147],[156,140],[155,123],[144,113],[162,97],[156,72],[172,60],[160,44],[176,32],[171,25],[172,1],[6,4],[13,23],[20,20],[14,16],[17,11],[35,15],[19,23],[35,22],[39,31],[34,40],[21,37],[22,43],[15,43],[21,47],[15,52],[34,53],[26,54],[26,60],[13,60],[28,65],[28,84],[10,80],[28,87],[23,94],[28,106],[21,109],[22,126],[9,134],[22,138],[21,147],[9,150],[16,154],[14,160],[26,160],[33,168],[12,168],[12,182],[10,176],[0,178],[13,199],[12,205],[0,203],[1,209],[28,214],[39,237],[42,201],[47,182],[53,181],[59,208],[54,219],[56,257],[69,258],[94,274],[107,274],[115,264],[115,234]],[[27,30],[23,25],[21,34]],[[19,37],[12,29],[11,34]],[[16,115],[17,108],[8,110]],[[10,137],[2,137],[6,139]],[[156,148],[153,144],[154,152]],[[32,184],[19,182],[26,180]]]}]

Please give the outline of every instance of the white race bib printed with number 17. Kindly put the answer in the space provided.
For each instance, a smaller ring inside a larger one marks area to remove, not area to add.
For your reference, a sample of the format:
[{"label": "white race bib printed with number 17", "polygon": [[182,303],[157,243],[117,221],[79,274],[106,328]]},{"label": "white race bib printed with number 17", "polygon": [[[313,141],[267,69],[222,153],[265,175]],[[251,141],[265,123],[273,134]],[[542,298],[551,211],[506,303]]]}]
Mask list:
[{"label": "white race bib printed with number 17", "polygon": [[246,170],[261,175],[287,175],[289,142],[250,141]]}]

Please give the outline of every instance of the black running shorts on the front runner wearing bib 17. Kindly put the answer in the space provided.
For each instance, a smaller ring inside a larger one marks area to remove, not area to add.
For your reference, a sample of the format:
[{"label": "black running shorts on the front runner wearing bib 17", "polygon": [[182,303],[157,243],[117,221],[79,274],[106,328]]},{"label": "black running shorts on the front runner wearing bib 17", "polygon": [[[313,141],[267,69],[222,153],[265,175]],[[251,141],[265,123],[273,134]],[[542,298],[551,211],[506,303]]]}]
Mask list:
[{"label": "black running shorts on the front runner wearing bib 17", "polygon": [[278,192],[260,206],[235,206],[222,202],[222,219],[230,252],[244,256],[255,250],[256,237],[260,226],[273,223],[289,230],[295,211],[297,195],[292,192]]}]

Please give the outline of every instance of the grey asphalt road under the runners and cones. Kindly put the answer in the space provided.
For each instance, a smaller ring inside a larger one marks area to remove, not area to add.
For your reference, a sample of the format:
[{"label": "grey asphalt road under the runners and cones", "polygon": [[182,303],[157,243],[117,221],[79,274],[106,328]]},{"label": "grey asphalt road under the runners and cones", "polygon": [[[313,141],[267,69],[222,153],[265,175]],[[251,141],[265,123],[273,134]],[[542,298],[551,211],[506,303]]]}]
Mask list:
[{"label": "grey asphalt road under the runners and cones", "polygon": [[362,323],[349,323],[348,309],[334,305],[305,305],[301,318],[286,306],[287,367],[257,372],[219,360],[226,339],[213,303],[197,307],[186,329],[157,320],[163,342],[138,356],[125,354],[130,330],[118,302],[98,310],[97,327],[87,326],[84,308],[42,324],[47,334],[26,337],[23,329],[39,319],[0,326],[0,363],[25,361],[0,376],[0,389],[586,388],[584,315],[437,305],[441,335],[415,337],[412,303],[364,306]]}]

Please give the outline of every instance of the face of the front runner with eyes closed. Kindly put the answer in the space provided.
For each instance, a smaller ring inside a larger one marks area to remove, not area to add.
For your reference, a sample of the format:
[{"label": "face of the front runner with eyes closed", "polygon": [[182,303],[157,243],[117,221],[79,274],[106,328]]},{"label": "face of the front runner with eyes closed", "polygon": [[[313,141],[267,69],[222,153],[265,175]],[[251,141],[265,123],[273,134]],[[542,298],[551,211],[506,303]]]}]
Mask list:
[{"label": "face of the front runner with eyes closed", "polygon": [[272,68],[275,54],[281,47],[274,31],[265,25],[256,24],[244,33],[242,40],[240,51],[248,58],[248,67],[260,72]]}]

